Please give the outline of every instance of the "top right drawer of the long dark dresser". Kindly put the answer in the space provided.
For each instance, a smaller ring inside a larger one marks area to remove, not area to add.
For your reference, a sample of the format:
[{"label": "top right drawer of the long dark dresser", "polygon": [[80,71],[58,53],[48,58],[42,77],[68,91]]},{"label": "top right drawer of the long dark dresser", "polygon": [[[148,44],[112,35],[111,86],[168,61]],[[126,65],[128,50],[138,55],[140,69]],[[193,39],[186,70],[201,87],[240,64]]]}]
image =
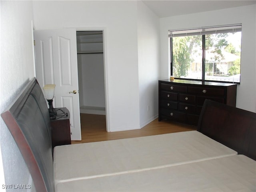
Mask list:
[{"label": "top right drawer of the long dark dresser", "polygon": [[223,88],[188,87],[188,93],[210,96],[224,96],[225,90]]}]

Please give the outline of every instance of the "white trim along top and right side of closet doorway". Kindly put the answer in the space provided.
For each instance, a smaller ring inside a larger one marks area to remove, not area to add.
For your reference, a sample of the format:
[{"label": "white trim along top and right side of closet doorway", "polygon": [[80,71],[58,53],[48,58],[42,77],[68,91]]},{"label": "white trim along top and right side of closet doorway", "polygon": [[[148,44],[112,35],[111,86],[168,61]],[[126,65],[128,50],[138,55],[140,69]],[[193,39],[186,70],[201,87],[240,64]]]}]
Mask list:
[{"label": "white trim along top and right side of closet doorway", "polygon": [[103,62],[104,62],[104,86],[105,86],[105,104],[106,104],[106,131],[110,132],[109,126],[109,99],[108,99],[108,68],[106,60],[106,28],[76,28],[76,31],[102,31],[103,36]]}]

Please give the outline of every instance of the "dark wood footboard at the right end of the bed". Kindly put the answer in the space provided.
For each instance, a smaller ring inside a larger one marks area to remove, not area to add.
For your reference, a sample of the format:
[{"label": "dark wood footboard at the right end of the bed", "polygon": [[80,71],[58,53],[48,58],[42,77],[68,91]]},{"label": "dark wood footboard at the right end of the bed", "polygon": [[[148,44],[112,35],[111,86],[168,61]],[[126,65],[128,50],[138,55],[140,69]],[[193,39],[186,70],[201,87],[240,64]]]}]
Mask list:
[{"label": "dark wood footboard at the right end of the bed", "polygon": [[256,160],[256,113],[205,100],[198,131]]}]

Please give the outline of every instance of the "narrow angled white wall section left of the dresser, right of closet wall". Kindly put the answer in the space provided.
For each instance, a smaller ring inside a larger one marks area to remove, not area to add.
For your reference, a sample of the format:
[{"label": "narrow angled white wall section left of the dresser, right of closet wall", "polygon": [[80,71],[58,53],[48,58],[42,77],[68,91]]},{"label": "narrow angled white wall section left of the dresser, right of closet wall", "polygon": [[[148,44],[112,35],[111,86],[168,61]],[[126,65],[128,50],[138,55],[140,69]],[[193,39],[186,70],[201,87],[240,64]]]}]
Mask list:
[{"label": "narrow angled white wall section left of the dresser, right of closet wall", "polygon": [[158,117],[159,18],[138,2],[140,127]]}]

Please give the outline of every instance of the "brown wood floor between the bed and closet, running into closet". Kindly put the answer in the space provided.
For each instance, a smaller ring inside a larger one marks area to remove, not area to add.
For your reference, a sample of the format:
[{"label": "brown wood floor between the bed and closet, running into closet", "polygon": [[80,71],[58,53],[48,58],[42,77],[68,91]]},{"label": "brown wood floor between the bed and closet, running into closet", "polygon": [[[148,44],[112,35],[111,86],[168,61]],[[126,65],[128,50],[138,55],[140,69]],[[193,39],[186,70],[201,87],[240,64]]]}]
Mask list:
[{"label": "brown wood floor between the bed and closet, running into closet", "polygon": [[107,132],[106,116],[80,114],[81,118],[81,141],[72,141],[72,144],[115,140],[123,138],[134,138],[182,131],[196,130],[196,126],[186,125],[178,122],[161,121],[158,119],[150,122],[138,130]]}]

